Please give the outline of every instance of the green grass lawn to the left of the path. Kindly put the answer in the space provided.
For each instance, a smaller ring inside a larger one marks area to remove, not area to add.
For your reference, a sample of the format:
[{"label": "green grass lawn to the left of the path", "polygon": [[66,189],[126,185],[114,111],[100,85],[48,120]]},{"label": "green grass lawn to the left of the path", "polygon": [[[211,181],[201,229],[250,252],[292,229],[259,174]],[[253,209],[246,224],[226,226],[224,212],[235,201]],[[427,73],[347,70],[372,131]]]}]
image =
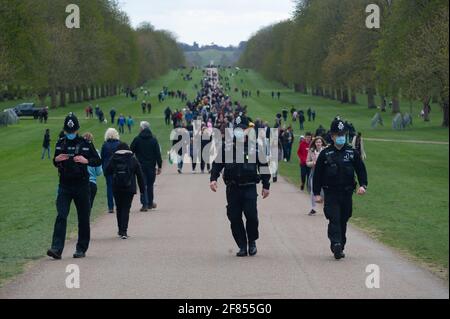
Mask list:
[{"label": "green grass lawn to the left of the path", "polygon": [[[200,79],[200,71],[196,72],[196,80]],[[182,80],[179,72],[173,71],[167,76],[149,83],[151,92],[156,94],[166,85],[172,89],[182,89],[193,98],[194,83]],[[106,114],[112,107],[118,113],[131,114],[136,120],[134,134],[125,134],[122,140],[130,143],[138,133],[140,120],[149,120],[154,133],[159,138],[162,147],[170,145],[168,136],[170,129],[165,126],[163,111],[170,105],[172,109],[182,107],[180,100],[169,99],[159,104],[152,97],[153,111],[150,117],[141,113],[140,104],[143,96],[137,102],[132,102],[124,96],[111,97],[94,101],[102,107]],[[0,104],[0,109],[18,104],[18,101],[8,101]],[[31,260],[44,256],[51,244],[53,223],[56,217],[56,190],[58,183],[57,170],[51,161],[41,161],[41,145],[46,128],[51,130],[52,152],[57,136],[62,128],[62,118],[73,111],[81,120],[80,132],[92,132],[95,136],[97,149],[103,144],[103,136],[110,124],[102,125],[97,120],[86,120],[84,109],[87,103],[71,105],[50,111],[48,123],[39,124],[32,119],[23,119],[18,125],[0,128],[0,284],[7,278],[19,274],[24,265]],[[58,119],[52,119],[58,118]],[[107,116],[109,118],[109,116]],[[110,120],[109,120],[110,121]],[[106,212],[106,190],[104,178],[98,180],[99,191],[93,209],[96,218]],[[76,229],[76,211],[72,206],[69,215],[69,230]],[[114,233],[115,230],[111,229]],[[66,247],[74,249],[74,247]]]}]

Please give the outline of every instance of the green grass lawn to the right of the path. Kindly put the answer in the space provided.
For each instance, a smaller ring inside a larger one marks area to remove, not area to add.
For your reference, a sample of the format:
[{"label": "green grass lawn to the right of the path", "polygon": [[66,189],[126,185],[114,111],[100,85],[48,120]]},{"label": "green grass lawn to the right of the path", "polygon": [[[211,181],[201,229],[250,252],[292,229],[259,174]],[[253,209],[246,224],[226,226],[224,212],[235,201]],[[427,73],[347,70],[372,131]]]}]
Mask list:
[{"label": "green grass lawn to the right of the path", "polygon": [[[383,114],[384,128],[370,127],[376,111],[366,107],[363,96],[358,97],[361,105],[342,105],[295,93],[279,83],[263,79],[253,71],[241,72],[238,77],[232,78],[231,86],[252,90],[253,98],[243,100],[244,105],[248,105],[253,118],[268,120],[270,124],[274,123],[275,114],[283,106],[288,109],[295,106],[305,111],[311,106],[318,117],[315,123],[307,122],[305,129],[312,132],[319,124],[328,128],[333,117],[340,114],[353,122],[366,138],[448,142],[448,129],[440,127],[442,115],[437,105],[433,105],[431,122],[425,123],[418,119],[420,104],[413,103],[414,126],[405,131],[393,131],[392,115],[387,113]],[[257,89],[262,92],[260,98],[256,97]],[[272,100],[272,90],[282,92],[280,101]],[[240,93],[233,92],[231,95],[240,99]],[[402,105],[402,110],[410,111],[409,102]],[[297,136],[305,132],[300,132],[296,123],[293,127]],[[297,146],[294,145],[294,154]],[[369,192],[365,197],[355,197],[352,222],[383,243],[448,277],[448,145],[366,141],[365,148],[368,154]],[[291,163],[281,164],[280,173],[299,185],[296,155],[293,155]]]}]

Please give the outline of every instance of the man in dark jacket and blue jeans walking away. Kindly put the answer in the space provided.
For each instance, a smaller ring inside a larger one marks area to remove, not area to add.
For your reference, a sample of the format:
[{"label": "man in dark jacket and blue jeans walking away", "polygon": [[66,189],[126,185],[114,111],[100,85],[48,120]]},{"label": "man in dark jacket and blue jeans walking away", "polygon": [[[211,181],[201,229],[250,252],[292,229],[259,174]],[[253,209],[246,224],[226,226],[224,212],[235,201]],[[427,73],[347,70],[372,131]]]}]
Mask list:
[{"label": "man in dark jacket and blue jeans walking away", "polygon": [[158,140],[153,136],[148,122],[141,122],[141,132],[131,143],[131,151],[136,155],[144,173],[146,192],[141,196],[141,212],[155,209],[154,184],[156,175],[161,174],[162,157]]}]

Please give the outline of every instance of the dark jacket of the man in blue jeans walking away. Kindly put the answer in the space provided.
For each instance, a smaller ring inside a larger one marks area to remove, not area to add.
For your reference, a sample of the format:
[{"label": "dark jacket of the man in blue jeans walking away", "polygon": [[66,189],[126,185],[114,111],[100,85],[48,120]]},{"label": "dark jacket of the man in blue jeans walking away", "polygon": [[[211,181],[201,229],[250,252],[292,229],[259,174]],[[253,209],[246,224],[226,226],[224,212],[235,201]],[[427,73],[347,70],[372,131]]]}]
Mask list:
[{"label": "dark jacket of the man in blue jeans walking away", "polygon": [[136,154],[142,168],[162,168],[161,148],[149,129],[143,130],[134,139],[131,151]]}]

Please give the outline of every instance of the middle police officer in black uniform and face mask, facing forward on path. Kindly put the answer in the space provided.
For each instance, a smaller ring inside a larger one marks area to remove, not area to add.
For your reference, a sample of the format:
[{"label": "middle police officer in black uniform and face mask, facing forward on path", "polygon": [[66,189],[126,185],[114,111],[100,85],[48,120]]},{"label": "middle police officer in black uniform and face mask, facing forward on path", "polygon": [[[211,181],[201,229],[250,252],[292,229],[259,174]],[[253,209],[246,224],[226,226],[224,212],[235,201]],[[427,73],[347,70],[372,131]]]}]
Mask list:
[{"label": "middle police officer in black uniform and face mask, facing forward on path", "polygon": [[[267,198],[270,194],[270,173],[268,172],[268,164],[259,161],[257,147],[249,149],[248,135],[246,137],[243,131],[249,127],[248,119],[241,116],[237,117],[234,127],[233,143],[231,145],[223,143],[222,160],[218,161],[216,158],[213,162],[210,188],[213,192],[217,192],[217,179],[224,170],[223,179],[226,185],[228,202],[227,215],[231,222],[234,240],[239,247],[237,256],[254,256],[257,253],[256,240],[259,238],[256,185],[262,181],[262,197]],[[240,143],[237,143],[237,141]],[[237,147],[238,144],[239,147]],[[227,157],[231,159],[229,152],[233,152],[233,156],[230,163],[227,163]],[[241,154],[237,154],[238,152],[241,152]],[[253,155],[252,152],[254,152]],[[240,159],[243,159],[243,161]],[[267,171],[262,172],[263,167]],[[247,220],[246,226],[244,226],[242,220],[242,213]]]}]

